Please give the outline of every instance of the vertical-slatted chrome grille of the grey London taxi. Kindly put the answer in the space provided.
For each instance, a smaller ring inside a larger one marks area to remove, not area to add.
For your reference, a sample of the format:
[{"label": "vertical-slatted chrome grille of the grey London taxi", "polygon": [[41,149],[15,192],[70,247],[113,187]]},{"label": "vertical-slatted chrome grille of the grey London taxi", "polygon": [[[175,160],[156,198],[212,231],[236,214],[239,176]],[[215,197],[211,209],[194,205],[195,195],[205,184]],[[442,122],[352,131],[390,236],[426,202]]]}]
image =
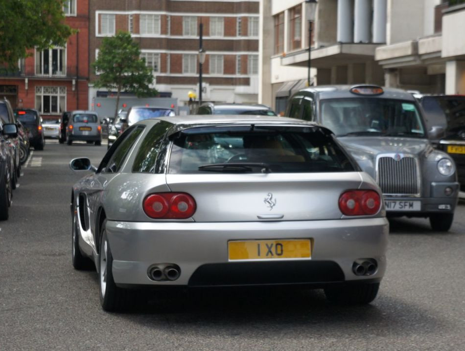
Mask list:
[{"label": "vertical-slatted chrome grille of the grey London taxi", "polygon": [[414,157],[398,161],[390,156],[378,158],[378,184],[383,194],[419,194],[418,172]]}]

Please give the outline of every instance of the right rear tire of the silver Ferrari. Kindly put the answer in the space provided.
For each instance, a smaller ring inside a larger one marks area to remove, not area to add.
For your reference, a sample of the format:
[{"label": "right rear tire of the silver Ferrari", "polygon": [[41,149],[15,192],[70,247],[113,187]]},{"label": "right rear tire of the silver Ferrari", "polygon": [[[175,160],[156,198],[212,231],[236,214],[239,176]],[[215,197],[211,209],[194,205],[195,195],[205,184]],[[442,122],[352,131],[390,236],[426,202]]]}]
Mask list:
[{"label": "right rear tire of the silver Ferrari", "polygon": [[326,299],[339,305],[366,305],[378,294],[379,283],[360,283],[325,288]]}]

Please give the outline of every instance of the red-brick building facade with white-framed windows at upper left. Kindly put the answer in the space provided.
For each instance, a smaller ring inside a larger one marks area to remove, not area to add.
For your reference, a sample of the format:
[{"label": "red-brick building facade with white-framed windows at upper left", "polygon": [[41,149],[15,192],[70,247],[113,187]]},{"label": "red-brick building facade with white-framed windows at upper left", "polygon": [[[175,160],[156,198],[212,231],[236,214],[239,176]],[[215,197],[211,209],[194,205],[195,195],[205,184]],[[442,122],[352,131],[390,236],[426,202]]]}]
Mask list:
[{"label": "red-brick building facade with white-framed windows at upper left", "polygon": [[68,0],[64,11],[65,22],[77,29],[64,47],[30,50],[17,71],[0,70],[0,98],[39,110],[44,119],[88,107],[89,0]]}]

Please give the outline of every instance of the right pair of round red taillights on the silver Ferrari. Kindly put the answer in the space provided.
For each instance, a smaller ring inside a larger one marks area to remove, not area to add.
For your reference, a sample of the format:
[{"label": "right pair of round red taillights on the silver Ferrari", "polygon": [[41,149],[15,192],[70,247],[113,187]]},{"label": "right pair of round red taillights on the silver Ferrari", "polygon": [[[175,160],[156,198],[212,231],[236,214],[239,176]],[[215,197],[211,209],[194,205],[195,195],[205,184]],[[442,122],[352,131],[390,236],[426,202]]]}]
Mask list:
[{"label": "right pair of round red taillights on the silver Ferrari", "polygon": [[349,190],[339,197],[339,209],[346,216],[374,215],[381,206],[381,197],[374,190]]}]

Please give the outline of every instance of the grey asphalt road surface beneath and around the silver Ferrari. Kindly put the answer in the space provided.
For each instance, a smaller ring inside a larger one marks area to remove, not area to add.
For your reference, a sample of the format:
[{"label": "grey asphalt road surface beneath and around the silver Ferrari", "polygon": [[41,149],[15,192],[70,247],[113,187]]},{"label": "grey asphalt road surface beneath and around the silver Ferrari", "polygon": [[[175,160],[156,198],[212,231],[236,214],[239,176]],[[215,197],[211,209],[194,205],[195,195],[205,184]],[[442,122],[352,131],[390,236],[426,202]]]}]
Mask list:
[{"label": "grey asphalt road surface beneath and around the silver Ferrari", "polygon": [[157,293],[130,312],[99,305],[95,271],[71,266],[73,157],[106,146],[34,151],[0,222],[0,350],[465,350],[465,206],[447,234],[391,221],[387,274],[366,307],[322,291]]}]

